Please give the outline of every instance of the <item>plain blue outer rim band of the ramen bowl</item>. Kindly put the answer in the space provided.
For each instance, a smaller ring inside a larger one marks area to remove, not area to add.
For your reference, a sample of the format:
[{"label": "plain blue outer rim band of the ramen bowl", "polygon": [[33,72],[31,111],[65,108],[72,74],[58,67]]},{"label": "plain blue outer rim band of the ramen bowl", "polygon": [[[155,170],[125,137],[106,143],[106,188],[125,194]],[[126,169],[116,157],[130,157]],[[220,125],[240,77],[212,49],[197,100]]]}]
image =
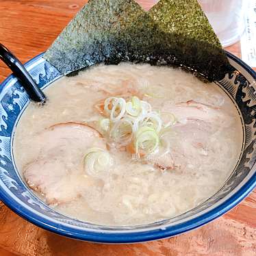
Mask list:
[{"label": "plain blue outer rim band of the ramen bowl", "polygon": [[[33,64],[36,63],[44,53],[40,53],[36,57],[29,60],[25,67],[29,68]],[[237,64],[239,64],[244,70],[256,80],[256,73],[253,69],[242,62],[238,57],[226,51],[227,57],[233,60]],[[10,75],[7,77],[3,83],[1,84],[0,92],[7,86],[10,81],[16,79],[14,75]],[[236,191],[229,199],[222,202],[217,207],[214,207],[209,212],[202,214],[201,216],[197,216],[196,218],[192,218],[183,223],[179,223],[177,225],[173,225],[170,227],[165,227],[164,229],[159,227],[159,229],[154,229],[151,231],[134,231],[134,232],[122,232],[118,233],[105,233],[101,230],[99,231],[83,231],[81,229],[74,229],[72,227],[64,227],[64,225],[58,225],[54,221],[42,219],[36,214],[30,212],[25,207],[18,205],[14,199],[10,198],[8,194],[1,189],[0,187],[0,200],[5,203],[13,212],[28,220],[29,222],[41,227],[43,229],[47,229],[53,233],[57,233],[59,235],[64,235],[69,238],[75,238],[77,240],[86,240],[89,242],[100,242],[100,243],[111,243],[111,244],[121,244],[121,243],[134,243],[134,242],[146,242],[152,240],[159,240],[162,238],[168,238],[171,236],[179,235],[181,233],[185,233],[192,229],[199,228],[208,222],[222,216],[230,209],[238,205],[242,199],[244,199],[255,187],[256,187],[256,163],[253,168],[255,168],[255,172],[253,175],[246,181],[246,183]]]}]

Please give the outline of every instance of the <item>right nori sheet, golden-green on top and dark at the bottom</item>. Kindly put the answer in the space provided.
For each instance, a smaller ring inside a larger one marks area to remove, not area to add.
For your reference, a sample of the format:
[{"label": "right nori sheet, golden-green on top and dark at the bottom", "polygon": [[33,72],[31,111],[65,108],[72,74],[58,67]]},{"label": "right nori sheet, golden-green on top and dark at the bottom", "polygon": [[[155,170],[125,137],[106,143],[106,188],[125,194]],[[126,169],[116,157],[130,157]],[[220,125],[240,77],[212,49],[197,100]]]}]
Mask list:
[{"label": "right nori sheet, golden-green on top and dark at the bottom", "polygon": [[229,62],[196,0],[161,0],[149,15],[166,35],[168,53],[175,62],[192,68],[210,80],[222,79]]}]

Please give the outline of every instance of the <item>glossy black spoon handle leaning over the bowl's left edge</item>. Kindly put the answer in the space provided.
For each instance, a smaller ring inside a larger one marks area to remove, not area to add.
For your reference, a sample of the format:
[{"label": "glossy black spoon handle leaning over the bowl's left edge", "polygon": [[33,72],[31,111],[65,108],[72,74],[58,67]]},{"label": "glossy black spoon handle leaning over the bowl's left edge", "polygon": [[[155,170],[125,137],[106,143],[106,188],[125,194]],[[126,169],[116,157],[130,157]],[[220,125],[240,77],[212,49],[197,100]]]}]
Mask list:
[{"label": "glossy black spoon handle leaning over the bowl's left edge", "polygon": [[45,103],[46,97],[29,75],[23,64],[0,43],[0,59],[12,70],[13,74],[21,81],[23,88],[32,101]]}]

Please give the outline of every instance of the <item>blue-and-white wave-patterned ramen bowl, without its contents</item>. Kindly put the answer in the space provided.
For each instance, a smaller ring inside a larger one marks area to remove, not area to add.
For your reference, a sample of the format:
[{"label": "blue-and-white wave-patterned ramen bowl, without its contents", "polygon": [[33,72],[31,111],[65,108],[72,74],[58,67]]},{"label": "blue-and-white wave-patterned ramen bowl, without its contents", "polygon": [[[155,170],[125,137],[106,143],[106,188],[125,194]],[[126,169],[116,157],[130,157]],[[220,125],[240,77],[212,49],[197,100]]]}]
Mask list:
[{"label": "blue-and-white wave-patterned ramen bowl, without its contents", "polygon": [[[29,103],[27,93],[11,75],[0,88],[0,199],[30,222],[71,238],[105,243],[144,242],[178,235],[225,214],[255,188],[256,184],[256,74],[244,62],[227,53],[234,71],[216,82],[238,108],[243,125],[243,146],[238,164],[225,185],[210,199],[180,216],[149,225],[109,227],[92,225],[58,214],[27,188],[16,170],[13,137],[16,124]],[[25,64],[40,88],[60,73],[42,58]]]}]

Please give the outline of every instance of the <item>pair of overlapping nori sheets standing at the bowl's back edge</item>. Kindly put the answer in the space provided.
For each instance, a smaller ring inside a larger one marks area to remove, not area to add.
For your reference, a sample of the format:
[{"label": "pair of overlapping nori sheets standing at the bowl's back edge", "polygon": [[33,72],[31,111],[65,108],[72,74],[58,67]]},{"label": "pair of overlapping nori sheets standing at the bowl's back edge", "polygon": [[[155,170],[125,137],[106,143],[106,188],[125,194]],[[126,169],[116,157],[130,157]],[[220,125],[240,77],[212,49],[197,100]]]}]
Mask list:
[{"label": "pair of overlapping nori sheets standing at the bowl's back edge", "polygon": [[63,75],[101,62],[131,61],[181,65],[212,81],[224,77],[228,66],[194,0],[162,0],[150,12],[133,0],[90,0],[44,58]]}]

